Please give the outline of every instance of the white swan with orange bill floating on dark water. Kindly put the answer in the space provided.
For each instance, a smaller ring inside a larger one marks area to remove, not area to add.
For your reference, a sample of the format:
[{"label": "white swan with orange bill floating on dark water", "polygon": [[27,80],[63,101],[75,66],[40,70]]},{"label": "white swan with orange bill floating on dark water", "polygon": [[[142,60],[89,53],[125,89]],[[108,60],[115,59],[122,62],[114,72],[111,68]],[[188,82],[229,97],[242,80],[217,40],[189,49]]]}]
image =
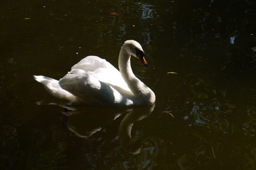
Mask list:
[{"label": "white swan with orange bill floating on dark water", "polygon": [[87,56],[60,81],[45,76],[34,75],[34,78],[52,96],[71,104],[112,107],[151,105],[155,102],[155,94],[133,74],[131,55],[148,66],[141,45],[134,40],[127,40],[119,53],[120,72],[105,59]]}]

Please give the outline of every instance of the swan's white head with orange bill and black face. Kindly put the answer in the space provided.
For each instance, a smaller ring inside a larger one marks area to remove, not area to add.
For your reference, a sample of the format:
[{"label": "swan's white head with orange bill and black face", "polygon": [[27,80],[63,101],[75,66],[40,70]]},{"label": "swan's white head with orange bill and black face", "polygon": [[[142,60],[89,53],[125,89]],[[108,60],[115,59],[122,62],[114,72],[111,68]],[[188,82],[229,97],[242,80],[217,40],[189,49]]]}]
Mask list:
[{"label": "swan's white head with orange bill and black face", "polygon": [[127,41],[125,41],[123,47],[126,48],[126,51],[127,51],[130,55],[132,55],[132,56],[138,58],[138,59],[142,62],[142,64],[143,64],[144,66],[146,66],[146,67],[149,66],[148,63],[147,63],[147,61],[146,61],[145,58],[144,58],[144,56],[145,56],[144,51],[143,51],[141,45],[140,45],[137,41],[134,41],[134,40],[127,40]]}]

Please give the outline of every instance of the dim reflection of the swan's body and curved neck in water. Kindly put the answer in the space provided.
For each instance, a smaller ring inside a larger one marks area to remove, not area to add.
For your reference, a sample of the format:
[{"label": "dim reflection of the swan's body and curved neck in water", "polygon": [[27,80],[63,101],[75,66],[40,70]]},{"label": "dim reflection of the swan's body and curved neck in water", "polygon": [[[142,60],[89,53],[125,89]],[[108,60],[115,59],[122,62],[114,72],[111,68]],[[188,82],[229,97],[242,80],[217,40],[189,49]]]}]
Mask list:
[{"label": "dim reflection of the swan's body and curved neck in water", "polygon": [[155,104],[127,109],[86,107],[63,112],[61,120],[67,129],[76,136],[90,137],[106,128],[108,124],[122,114],[127,113],[119,125],[119,140],[126,151],[137,154],[140,153],[145,138],[133,138],[131,136],[132,126],[136,121],[142,120],[151,114],[154,107]]}]

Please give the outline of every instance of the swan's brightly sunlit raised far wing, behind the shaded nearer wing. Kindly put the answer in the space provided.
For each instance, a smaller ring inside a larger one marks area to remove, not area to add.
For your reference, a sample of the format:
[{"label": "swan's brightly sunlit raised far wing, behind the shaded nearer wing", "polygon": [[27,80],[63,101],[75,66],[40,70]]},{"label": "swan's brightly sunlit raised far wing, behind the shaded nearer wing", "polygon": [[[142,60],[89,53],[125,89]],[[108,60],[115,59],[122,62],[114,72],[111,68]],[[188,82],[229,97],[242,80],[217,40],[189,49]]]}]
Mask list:
[{"label": "swan's brightly sunlit raised far wing, behind the shaded nearer wing", "polygon": [[87,56],[75,64],[73,69],[82,69],[95,79],[130,91],[120,72],[105,59],[97,56]]}]

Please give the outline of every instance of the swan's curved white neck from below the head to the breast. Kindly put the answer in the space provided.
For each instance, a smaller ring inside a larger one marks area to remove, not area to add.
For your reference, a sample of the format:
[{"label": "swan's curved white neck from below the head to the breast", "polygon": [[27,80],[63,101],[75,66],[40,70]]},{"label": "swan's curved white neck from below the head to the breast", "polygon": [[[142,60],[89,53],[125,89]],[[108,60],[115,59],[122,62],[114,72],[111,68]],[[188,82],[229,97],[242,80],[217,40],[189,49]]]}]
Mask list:
[{"label": "swan's curved white neck from below the head to the breast", "polygon": [[122,77],[136,99],[144,104],[152,104],[155,102],[154,92],[133,74],[130,66],[130,54],[127,52],[126,46],[121,47],[118,66]]}]

